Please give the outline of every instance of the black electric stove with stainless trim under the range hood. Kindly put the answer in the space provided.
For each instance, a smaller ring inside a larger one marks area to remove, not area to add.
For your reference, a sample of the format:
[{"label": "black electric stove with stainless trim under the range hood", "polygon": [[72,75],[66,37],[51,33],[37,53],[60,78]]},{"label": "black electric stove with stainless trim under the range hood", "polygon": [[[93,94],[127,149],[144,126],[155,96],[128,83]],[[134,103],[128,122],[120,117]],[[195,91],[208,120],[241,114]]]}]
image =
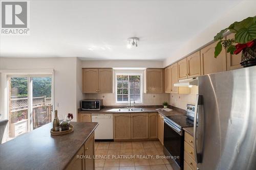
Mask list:
[{"label": "black electric stove with stainless trim under the range hood", "polygon": [[184,131],[182,128],[194,126],[195,106],[187,104],[186,114],[164,117],[164,154],[174,169],[183,169]]}]

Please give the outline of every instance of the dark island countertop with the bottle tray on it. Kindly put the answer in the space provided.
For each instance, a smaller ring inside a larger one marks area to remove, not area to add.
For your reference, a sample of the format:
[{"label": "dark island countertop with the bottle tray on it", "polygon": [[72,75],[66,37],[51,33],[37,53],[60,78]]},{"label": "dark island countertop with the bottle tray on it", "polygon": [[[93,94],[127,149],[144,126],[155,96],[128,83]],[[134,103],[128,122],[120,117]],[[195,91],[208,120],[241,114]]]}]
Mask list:
[{"label": "dark island countertop with the bottle tray on it", "polygon": [[71,123],[74,132],[52,136],[52,123],[0,144],[0,169],[63,169],[98,123]]}]

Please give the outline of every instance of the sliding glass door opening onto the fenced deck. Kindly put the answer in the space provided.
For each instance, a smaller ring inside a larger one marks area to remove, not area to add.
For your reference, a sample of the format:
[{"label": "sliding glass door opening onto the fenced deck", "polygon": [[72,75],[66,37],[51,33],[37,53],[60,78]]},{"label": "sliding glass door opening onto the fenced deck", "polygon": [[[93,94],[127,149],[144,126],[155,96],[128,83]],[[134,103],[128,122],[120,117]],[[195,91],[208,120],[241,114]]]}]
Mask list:
[{"label": "sliding glass door opening onto the fenced deck", "polygon": [[52,76],[8,76],[8,139],[52,122]]}]

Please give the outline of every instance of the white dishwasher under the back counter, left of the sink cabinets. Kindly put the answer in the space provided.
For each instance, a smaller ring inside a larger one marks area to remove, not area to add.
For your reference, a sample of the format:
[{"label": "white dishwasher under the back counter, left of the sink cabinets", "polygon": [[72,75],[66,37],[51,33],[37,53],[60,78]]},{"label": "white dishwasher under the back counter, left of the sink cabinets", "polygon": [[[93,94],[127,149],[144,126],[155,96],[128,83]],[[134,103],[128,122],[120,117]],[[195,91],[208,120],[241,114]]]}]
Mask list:
[{"label": "white dishwasher under the back counter, left of the sink cabinets", "polygon": [[95,139],[113,139],[113,114],[92,114],[92,122],[99,123]]}]

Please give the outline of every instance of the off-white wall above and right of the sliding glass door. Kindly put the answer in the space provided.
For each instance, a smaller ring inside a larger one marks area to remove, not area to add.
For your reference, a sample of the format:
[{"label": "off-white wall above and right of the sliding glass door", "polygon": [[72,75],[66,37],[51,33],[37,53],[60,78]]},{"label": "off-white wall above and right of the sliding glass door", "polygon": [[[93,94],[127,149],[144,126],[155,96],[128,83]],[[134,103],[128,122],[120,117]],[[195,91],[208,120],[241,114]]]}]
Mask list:
[{"label": "off-white wall above and right of the sliding glass door", "polygon": [[[76,100],[81,99],[81,95],[79,95],[80,87],[77,89],[80,83],[78,76],[81,73],[77,71],[77,64],[79,64],[79,60],[75,57],[0,58],[0,69],[54,69],[55,109],[58,110],[59,115],[62,115],[63,118],[67,113],[73,113],[74,121],[76,121],[77,113]],[[4,78],[1,79],[1,81],[5,80]],[[4,82],[1,84],[3,85]],[[1,98],[4,98],[3,94],[1,94]]]}]

